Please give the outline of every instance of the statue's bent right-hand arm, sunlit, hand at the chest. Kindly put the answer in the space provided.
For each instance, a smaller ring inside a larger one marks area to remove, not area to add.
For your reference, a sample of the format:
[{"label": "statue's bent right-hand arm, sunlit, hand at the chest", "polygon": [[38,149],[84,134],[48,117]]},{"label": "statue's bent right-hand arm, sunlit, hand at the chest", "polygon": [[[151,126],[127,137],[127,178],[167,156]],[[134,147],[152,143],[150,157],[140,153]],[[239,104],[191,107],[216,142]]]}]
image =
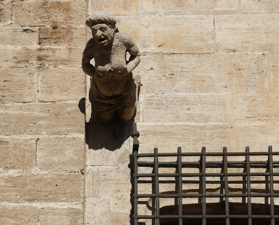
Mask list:
[{"label": "statue's bent right-hand arm, sunlit, hand at the chest", "polygon": [[140,62],[140,52],[136,43],[132,40],[130,36],[127,37],[126,47],[127,51],[130,53],[130,59],[126,65],[127,72],[131,73],[133,69],[137,67]]}]

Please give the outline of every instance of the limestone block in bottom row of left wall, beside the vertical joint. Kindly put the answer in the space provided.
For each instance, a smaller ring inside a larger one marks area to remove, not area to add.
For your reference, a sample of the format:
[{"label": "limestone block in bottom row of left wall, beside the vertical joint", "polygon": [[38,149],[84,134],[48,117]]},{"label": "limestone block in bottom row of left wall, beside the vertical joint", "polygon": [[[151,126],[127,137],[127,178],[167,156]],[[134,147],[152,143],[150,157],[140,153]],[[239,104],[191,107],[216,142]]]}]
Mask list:
[{"label": "limestone block in bottom row of left wall, beside the vertical joint", "polygon": [[82,225],[83,210],[45,207],[39,209],[40,225]]}]

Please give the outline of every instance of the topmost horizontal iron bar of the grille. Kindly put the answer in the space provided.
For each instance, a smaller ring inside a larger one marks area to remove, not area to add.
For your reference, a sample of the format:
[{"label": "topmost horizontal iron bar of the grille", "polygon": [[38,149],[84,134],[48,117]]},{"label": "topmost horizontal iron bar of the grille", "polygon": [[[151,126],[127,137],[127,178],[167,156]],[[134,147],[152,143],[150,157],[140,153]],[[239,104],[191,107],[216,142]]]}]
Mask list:
[{"label": "topmost horizontal iron bar of the grille", "polygon": [[[206,156],[223,156],[223,152],[206,152]],[[249,152],[250,156],[268,156],[269,152]],[[182,152],[181,156],[201,156],[201,152]],[[246,152],[227,152],[227,156],[245,156]],[[273,156],[279,155],[279,152],[272,152]],[[177,152],[174,153],[158,153],[158,157],[172,157],[178,156]],[[154,153],[139,153],[137,157],[154,157]]]}]

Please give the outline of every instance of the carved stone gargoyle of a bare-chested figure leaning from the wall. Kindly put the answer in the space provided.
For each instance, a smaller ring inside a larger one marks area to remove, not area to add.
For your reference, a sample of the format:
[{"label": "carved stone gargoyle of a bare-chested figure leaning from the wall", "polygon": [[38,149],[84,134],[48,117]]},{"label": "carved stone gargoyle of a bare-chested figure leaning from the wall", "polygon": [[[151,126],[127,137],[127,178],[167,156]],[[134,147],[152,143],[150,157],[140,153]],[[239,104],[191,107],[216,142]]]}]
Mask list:
[{"label": "carved stone gargoyle of a bare-chested figure leaning from the wall", "polygon": [[[105,12],[86,19],[92,36],[82,58],[84,73],[92,77],[89,99],[92,114],[100,122],[111,121],[117,114],[120,120],[130,120],[136,107],[136,85],[132,70],[140,62],[140,52],[127,35],[118,31],[116,20]],[[130,58],[126,60],[126,53]],[[95,66],[90,63],[94,58]]]}]

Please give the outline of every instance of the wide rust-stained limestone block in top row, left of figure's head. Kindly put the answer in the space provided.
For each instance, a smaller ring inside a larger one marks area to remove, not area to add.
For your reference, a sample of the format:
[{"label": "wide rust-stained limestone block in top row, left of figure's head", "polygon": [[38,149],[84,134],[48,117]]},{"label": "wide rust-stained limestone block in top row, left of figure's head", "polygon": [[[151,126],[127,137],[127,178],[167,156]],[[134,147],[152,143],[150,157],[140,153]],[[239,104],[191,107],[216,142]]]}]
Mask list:
[{"label": "wide rust-stained limestone block in top row, left of figure's head", "polygon": [[83,25],[86,20],[86,1],[15,1],[13,20],[20,26]]}]

